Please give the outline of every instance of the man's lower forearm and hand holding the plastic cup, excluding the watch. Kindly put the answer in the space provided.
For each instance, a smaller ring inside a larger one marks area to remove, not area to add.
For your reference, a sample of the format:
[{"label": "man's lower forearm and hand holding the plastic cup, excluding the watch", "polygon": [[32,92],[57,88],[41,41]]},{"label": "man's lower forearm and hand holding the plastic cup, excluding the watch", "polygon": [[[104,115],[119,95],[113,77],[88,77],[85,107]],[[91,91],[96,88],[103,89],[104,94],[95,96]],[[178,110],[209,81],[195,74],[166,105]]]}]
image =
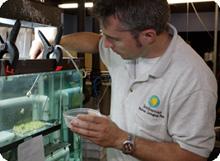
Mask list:
[{"label": "man's lower forearm and hand holding the plastic cup, excluding the watch", "polygon": [[[120,129],[108,117],[79,115],[71,122],[71,130],[103,146],[122,150],[128,133]],[[135,150],[132,154],[142,161],[206,161],[195,153],[182,149],[176,143],[156,142],[135,138]]]}]

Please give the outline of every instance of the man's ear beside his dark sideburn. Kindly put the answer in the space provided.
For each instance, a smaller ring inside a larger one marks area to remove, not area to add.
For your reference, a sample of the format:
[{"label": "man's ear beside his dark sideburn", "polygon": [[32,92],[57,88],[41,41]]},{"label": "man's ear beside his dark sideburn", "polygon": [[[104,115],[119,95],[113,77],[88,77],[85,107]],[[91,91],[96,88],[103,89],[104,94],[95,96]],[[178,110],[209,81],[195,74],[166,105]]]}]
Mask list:
[{"label": "man's ear beside his dark sideburn", "polygon": [[152,44],[156,40],[157,33],[153,29],[146,29],[140,33],[140,41],[144,44]]}]

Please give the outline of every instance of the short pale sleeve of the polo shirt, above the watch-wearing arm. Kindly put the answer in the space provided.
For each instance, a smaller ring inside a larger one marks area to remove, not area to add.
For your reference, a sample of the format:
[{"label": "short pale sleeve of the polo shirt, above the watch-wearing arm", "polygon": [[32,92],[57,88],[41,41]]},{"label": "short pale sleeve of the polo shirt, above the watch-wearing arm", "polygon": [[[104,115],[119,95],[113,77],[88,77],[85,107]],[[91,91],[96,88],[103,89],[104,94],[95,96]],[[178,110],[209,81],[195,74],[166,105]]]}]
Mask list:
[{"label": "short pale sleeve of the polo shirt, above the watch-wearing arm", "polygon": [[208,157],[215,144],[217,98],[204,89],[170,103],[168,131],[181,148]]}]

